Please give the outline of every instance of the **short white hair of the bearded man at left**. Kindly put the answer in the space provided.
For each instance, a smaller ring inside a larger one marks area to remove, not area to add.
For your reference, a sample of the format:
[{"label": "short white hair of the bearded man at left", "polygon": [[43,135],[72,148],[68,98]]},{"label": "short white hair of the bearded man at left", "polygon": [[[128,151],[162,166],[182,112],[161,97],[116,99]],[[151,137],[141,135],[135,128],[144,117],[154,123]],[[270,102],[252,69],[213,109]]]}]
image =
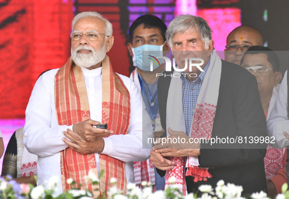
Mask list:
[{"label": "short white hair of the bearded man at left", "polygon": [[86,18],[86,17],[95,17],[95,18],[99,18],[99,19],[103,20],[104,22],[106,22],[105,34],[107,36],[112,36],[112,24],[111,24],[111,22],[97,12],[81,12],[81,13],[75,15],[75,17],[72,20],[71,30],[73,30],[74,25],[78,20],[80,20],[81,18]]}]

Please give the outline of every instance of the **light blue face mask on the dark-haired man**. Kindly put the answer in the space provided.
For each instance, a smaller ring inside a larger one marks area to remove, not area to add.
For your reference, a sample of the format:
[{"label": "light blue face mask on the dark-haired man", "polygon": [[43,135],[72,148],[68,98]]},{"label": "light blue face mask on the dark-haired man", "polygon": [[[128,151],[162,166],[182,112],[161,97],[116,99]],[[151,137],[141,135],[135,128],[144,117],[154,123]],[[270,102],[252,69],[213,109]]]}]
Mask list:
[{"label": "light blue face mask on the dark-haired man", "polygon": [[[135,48],[132,47],[133,66],[137,66],[139,69],[144,70],[144,71],[150,71],[151,60],[146,55],[151,55],[154,57],[163,56],[162,47],[164,46],[164,44],[162,45],[144,44]],[[145,51],[144,58],[143,58],[143,51]],[[164,63],[164,59],[159,59],[159,64],[162,64],[162,63]],[[153,63],[153,69],[156,69],[156,67],[157,65]]]}]

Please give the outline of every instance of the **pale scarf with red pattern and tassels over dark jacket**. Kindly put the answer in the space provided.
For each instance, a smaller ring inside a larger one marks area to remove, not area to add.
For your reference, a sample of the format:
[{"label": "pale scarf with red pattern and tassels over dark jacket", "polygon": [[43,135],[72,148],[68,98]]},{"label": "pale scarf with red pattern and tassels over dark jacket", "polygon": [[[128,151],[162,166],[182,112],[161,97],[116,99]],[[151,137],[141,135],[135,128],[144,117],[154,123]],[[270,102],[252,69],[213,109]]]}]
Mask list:
[{"label": "pale scarf with red pattern and tassels over dark jacket", "polygon": [[[210,58],[210,65],[204,76],[200,93],[197,100],[195,113],[193,116],[193,123],[190,130],[189,137],[191,138],[206,138],[212,137],[213,123],[216,114],[217,102],[219,97],[219,87],[222,72],[222,62],[216,51],[212,51]],[[194,66],[193,66],[194,67]],[[173,74],[180,73],[174,71]],[[185,119],[182,106],[182,80],[175,75],[172,77],[167,99],[167,113],[166,113],[166,131],[168,128],[173,131],[186,132]],[[176,177],[175,185],[178,189],[186,195],[186,176],[195,177],[194,181],[206,181],[207,177],[211,177],[208,168],[200,168],[197,156],[188,156],[185,162],[185,157],[168,157],[175,161],[175,167],[166,171],[165,188],[170,185],[169,178]],[[187,172],[185,173],[185,167]]]}]

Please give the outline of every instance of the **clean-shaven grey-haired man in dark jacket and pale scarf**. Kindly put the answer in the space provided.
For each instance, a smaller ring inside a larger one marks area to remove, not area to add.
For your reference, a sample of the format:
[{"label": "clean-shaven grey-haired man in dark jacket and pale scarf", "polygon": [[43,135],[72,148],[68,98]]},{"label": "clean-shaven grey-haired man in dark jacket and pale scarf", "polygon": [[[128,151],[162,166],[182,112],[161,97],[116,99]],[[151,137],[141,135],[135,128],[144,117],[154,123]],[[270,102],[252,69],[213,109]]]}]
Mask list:
[{"label": "clean-shaven grey-haired man in dark jacket and pale scarf", "polygon": [[[183,71],[165,71],[158,80],[161,125],[169,137],[153,147],[151,160],[166,176],[166,186],[176,177],[183,194],[221,179],[242,185],[244,194],[266,190],[267,144],[245,144],[245,137],[267,135],[256,78],[221,60],[211,33],[204,19],[192,15],[169,24],[166,38]],[[190,58],[201,58],[201,69],[194,66],[200,61],[187,67]],[[217,138],[222,143],[214,144]]]}]

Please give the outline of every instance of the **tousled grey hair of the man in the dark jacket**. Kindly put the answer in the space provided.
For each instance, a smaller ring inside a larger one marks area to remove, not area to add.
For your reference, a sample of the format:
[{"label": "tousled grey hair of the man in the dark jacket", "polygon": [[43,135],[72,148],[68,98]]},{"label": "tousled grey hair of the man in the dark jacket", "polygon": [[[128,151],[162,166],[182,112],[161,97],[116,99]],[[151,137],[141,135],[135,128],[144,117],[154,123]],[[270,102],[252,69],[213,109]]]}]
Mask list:
[{"label": "tousled grey hair of the man in the dark jacket", "polygon": [[209,49],[212,40],[212,29],[201,17],[193,15],[178,15],[170,24],[166,32],[166,39],[173,47],[173,37],[176,33],[184,33],[188,29],[196,28],[200,32],[201,40],[205,43],[205,49]]}]

